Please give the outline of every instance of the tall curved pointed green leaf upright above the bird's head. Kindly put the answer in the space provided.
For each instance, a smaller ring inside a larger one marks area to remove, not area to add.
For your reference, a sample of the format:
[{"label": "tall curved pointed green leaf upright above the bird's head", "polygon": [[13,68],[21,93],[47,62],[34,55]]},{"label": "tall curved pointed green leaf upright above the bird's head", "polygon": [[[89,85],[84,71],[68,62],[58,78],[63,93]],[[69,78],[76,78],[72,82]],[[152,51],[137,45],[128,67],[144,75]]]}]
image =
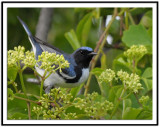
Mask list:
[{"label": "tall curved pointed green leaf upright above the bird's head", "polygon": [[83,46],[86,45],[88,34],[91,28],[93,13],[86,14],[77,26],[77,36]]}]

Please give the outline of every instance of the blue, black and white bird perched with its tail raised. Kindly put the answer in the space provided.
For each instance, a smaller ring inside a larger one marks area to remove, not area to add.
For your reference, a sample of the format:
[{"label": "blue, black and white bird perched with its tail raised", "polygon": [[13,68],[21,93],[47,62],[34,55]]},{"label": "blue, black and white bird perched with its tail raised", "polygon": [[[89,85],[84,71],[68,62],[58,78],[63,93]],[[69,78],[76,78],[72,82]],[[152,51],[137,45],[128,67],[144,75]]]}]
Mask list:
[{"label": "blue, black and white bird perched with its tail raised", "polygon": [[[34,37],[26,23],[22,21],[20,17],[17,16],[17,18],[28,35],[36,60],[38,59],[38,56],[42,54],[42,52],[49,52],[63,55],[65,60],[70,63],[68,68],[64,68],[62,71],[57,70],[56,73],[52,73],[47,79],[45,79],[45,93],[50,93],[50,90],[54,87],[77,87],[88,79],[90,62],[97,54],[92,48],[80,47],[71,54],[65,53],[55,46],[44,42],[37,37]],[[41,76],[43,76],[43,69],[37,66],[35,66],[35,69]]]}]

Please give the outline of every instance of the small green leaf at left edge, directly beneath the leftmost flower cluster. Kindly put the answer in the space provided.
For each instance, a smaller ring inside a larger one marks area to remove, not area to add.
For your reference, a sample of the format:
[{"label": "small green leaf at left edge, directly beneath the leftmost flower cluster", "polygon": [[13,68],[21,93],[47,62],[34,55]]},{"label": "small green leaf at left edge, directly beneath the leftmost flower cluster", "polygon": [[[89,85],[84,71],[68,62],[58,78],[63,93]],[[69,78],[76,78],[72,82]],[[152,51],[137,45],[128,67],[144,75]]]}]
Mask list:
[{"label": "small green leaf at left edge, directly beneath the leftmost flower cluster", "polygon": [[17,72],[18,69],[16,67],[9,67],[7,70],[7,77],[9,78],[9,80],[11,81],[15,81],[16,77],[17,77]]}]

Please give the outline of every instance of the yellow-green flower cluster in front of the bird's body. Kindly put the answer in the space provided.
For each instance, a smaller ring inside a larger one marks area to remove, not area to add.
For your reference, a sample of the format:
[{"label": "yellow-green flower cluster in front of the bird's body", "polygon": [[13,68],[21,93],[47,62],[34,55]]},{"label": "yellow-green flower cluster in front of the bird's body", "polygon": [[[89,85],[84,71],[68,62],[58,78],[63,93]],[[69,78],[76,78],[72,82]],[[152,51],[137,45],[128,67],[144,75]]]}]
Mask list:
[{"label": "yellow-green flower cluster in front of the bird's body", "polygon": [[[48,71],[55,72],[56,69],[61,69],[65,67],[69,67],[69,63],[64,59],[63,55],[56,55],[56,53],[48,53],[42,52],[40,56],[38,56],[38,62],[41,62],[40,68]],[[56,67],[58,65],[58,67]]]}]

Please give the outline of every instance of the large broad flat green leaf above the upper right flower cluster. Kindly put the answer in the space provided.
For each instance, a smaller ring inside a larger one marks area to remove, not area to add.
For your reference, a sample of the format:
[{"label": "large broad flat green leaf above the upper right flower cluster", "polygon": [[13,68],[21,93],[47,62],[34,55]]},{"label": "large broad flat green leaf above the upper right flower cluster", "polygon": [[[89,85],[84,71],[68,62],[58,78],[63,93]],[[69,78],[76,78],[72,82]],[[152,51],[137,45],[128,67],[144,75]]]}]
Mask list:
[{"label": "large broad flat green leaf above the upper right flower cluster", "polygon": [[152,45],[152,40],[147,30],[141,24],[130,25],[129,29],[123,32],[122,41],[128,47],[132,45]]}]

